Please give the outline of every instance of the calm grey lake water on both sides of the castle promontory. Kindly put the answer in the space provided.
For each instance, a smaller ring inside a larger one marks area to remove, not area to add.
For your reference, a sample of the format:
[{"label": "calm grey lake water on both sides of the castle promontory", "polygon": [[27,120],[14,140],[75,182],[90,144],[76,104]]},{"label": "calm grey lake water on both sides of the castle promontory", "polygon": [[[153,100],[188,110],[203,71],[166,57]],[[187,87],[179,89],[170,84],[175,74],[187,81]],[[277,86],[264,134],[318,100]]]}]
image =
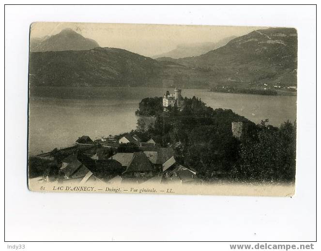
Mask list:
[{"label": "calm grey lake water on both sides of the castle promontory", "polygon": [[[141,99],[162,96],[167,89],[32,88],[29,153],[71,145],[81,135],[95,139],[129,132],[136,127],[135,111]],[[255,123],[268,118],[270,124],[279,126],[287,119],[296,119],[296,96],[215,93],[206,89],[183,89],[182,95],[199,97],[214,109],[231,109]]]}]

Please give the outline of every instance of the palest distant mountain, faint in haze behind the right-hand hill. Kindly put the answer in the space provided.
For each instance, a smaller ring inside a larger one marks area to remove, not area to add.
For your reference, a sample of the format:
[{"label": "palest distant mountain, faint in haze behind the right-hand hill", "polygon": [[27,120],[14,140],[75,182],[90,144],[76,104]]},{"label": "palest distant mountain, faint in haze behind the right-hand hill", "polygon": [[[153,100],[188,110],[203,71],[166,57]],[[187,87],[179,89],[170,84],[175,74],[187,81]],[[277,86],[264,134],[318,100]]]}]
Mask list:
[{"label": "palest distant mountain, faint in haze behind the right-hand hill", "polygon": [[174,50],[171,50],[166,53],[155,55],[152,58],[173,58],[180,59],[186,57],[195,57],[202,54],[205,54],[211,50],[215,50],[221,46],[227,44],[230,40],[236,38],[236,36],[231,36],[224,38],[216,43],[205,42],[205,43],[193,43],[193,44],[179,44]]}]

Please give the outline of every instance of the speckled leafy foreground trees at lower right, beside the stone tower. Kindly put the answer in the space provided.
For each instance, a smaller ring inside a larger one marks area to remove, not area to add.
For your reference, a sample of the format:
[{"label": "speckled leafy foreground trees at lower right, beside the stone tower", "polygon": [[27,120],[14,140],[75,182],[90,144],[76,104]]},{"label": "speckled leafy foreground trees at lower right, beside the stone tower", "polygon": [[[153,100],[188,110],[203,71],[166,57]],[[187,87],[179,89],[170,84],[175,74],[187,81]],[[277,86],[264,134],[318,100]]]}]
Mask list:
[{"label": "speckled leafy foreground trees at lower right, beside the stone tower", "polygon": [[258,127],[258,140],[247,140],[241,146],[241,177],[252,181],[294,181],[295,126],[287,121],[278,129],[266,122],[261,121]]}]

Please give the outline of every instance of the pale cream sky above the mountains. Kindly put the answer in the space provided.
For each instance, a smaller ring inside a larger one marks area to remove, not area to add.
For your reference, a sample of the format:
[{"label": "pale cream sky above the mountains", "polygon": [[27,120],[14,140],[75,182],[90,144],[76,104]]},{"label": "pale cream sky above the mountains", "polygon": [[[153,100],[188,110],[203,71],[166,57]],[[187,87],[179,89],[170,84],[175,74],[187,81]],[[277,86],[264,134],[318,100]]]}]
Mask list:
[{"label": "pale cream sky above the mountains", "polygon": [[242,36],[264,27],[199,26],[99,23],[33,23],[31,38],[51,36],[70,28],[101,47],[115,47],[153,57],[176,48],[179,44],[218,42],[230,36]]}]

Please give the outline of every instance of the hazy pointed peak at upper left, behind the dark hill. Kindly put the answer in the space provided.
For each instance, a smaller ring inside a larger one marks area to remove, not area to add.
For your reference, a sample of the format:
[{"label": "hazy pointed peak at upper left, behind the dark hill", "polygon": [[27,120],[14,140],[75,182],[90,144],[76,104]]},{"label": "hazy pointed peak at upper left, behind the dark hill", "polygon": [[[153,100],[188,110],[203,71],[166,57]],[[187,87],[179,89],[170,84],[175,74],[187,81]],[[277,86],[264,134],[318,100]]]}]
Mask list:
[{"label": "hazy pointed peak at upper left, behind the dark hill", "polygon": [[30,39],[31,52],[78,51],[90,50],[95,47],[99,47],[99,44],[96,41],[90,38],[84,38],[72,29],[61,30],[60,33],[53,36]]}]

